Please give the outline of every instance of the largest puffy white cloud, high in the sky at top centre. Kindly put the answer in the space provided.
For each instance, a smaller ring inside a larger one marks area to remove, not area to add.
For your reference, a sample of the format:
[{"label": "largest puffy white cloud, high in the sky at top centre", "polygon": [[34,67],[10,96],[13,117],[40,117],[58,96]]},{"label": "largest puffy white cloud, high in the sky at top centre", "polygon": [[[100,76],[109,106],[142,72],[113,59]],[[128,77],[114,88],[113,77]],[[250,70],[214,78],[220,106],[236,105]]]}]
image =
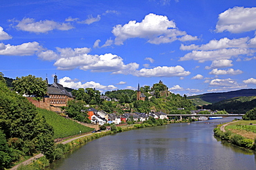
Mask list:
[{"label": "largest puffy white cloud, high in the sky at top centre", "polygon": [[[124,41],[131,38],[147,39],[148,43],[160,44],[171,43],[178,40],[178,36],[185,36],[185,31],[176,28],[174,21],[166,16],[147,14],[143,21],[129,21],[125,25],[116,25],[112,33],[116,36],[115,44],[122,45]],[[192,36],[185,36],[182,40],[191,39]],[[194,39],[196,39],[194,37]]]}]

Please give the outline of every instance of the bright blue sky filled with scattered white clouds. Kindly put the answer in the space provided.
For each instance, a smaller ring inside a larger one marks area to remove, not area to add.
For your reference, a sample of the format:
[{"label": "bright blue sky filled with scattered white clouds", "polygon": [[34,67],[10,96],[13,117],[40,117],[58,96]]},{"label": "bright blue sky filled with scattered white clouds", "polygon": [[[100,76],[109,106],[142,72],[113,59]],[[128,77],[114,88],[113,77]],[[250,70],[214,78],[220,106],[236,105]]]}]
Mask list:
[{"label": "bright blue sky filled with scattered white clouds", "polygon": [[64,87],[187,96],[256,88],[255,0],[9,0],[0,72]]}]

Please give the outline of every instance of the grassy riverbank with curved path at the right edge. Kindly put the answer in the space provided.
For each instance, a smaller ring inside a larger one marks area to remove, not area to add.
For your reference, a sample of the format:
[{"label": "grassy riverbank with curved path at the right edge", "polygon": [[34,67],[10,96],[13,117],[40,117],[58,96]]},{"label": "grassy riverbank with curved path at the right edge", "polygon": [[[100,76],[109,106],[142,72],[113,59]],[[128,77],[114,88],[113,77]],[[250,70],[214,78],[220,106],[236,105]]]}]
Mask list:
[{"label": "grassy riverbank with curved path at the right edge", "polygon": [[226,140],[238,147],[256,149],[256,121],[236,120],[218,125],[214,128],[214,136]]}]

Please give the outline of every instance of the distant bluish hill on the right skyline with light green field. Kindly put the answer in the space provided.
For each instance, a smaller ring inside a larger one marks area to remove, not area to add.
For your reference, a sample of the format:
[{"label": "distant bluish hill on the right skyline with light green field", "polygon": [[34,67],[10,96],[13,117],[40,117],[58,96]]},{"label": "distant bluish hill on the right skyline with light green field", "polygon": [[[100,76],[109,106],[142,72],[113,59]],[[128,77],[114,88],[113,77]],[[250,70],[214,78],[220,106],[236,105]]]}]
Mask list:
[{"label": "distant bluish hill on the right skyline with light green field", "polygon": [[239,89],[231,92],[207,93],[196,96],[188,96],[194,105],[209,105],[221,100],[227,100],[239,96],[256,96],[256,89]]}]

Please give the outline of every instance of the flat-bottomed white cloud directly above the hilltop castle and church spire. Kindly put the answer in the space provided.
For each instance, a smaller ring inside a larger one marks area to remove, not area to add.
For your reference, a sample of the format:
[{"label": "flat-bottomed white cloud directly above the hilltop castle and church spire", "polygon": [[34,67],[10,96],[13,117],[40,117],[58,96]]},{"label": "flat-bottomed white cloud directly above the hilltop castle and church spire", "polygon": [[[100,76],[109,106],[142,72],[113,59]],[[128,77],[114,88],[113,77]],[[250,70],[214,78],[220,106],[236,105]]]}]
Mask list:
[{"label": "flat-bottomed white cloud directly above the hilltop castle and church spire", "polygon": [[143,68],[141,70],[136,70],[133,73],[134,76],[143,76],[143,77],[173,77],[173,76],[188,76],[190,72],[185,71],[180,65],[175,67],[154,67],[153,69]]}]

